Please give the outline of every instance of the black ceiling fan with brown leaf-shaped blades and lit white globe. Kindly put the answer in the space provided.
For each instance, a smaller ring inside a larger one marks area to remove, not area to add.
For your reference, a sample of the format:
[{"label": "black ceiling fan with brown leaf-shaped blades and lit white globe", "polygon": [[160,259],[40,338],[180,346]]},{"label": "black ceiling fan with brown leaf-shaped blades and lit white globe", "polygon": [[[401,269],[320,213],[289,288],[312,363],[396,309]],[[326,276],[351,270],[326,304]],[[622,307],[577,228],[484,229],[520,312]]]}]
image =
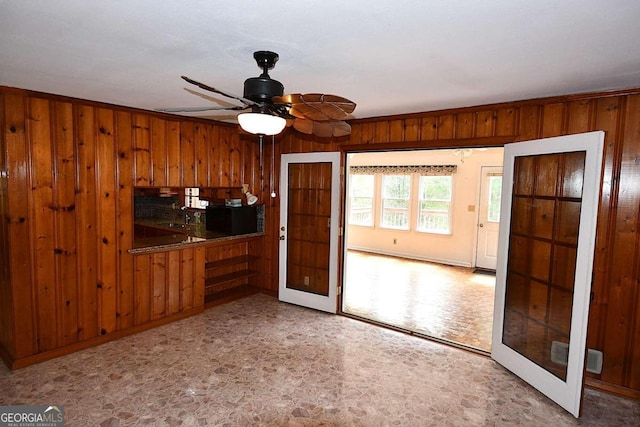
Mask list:
[{"label": "black ceiling fan with brown leaf-shaped blades and lit white globe", "polygon": [[216,89],[189,77],[181,76],[186,82],[228,98],[243,105],[231,107],[164,108],[158,111],[168,113],[211,111],[211,110],[251,110],[238,115],[240,126],[247,132],[258,135],[275,135],[285,126],[305,134],[320,137],[344,136],[351,133],[351,126],[344,120],[356,108],[356,104],[346,98],[320,93],[284,95],[284,86],[269,76],[279,56],[275,52],[257,51],[253,58],[262,74],[250,77],[244,82],[243,96]]}]

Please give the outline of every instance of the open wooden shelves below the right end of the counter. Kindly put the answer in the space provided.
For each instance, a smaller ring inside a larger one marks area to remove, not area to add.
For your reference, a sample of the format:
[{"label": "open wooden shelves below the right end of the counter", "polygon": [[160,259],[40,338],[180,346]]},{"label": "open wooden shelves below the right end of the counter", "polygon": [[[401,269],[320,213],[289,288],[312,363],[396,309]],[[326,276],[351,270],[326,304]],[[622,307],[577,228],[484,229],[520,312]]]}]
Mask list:
[{"label": "open wooden shelves below the right end of the counter", "polygon": [[205,304],[232,290],[259,287],[262,236],[244,237],[207,247]]}]

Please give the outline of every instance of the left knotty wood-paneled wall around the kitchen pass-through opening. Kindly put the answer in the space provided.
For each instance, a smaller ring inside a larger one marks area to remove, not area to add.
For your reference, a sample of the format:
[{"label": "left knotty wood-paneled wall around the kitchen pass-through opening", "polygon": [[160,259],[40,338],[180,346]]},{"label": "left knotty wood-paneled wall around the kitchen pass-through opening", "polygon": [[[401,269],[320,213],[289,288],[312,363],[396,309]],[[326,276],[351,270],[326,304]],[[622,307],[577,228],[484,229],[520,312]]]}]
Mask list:
[{"label": "left knotty wood-paneled wall around the kitchen pass-through opening", "polygon": [[0,344],[14,366],[202,309],[199,251],[127,252],[134,186],[247,183],[264,200],[258,144],[234,125],[0,88],[0,135]]}]

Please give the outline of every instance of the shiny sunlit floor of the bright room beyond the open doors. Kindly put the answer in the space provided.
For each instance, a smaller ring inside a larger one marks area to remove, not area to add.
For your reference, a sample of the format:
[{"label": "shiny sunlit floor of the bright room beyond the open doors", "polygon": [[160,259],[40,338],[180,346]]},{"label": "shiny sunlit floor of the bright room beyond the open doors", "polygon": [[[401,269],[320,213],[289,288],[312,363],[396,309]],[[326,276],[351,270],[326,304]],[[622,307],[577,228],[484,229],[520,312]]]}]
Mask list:
[{"label": "shiny sunlit floor of the bright room beyond the open doors", "polygon": [[342,310],[490,352],[495,276],[473,271],[350,250]]}]

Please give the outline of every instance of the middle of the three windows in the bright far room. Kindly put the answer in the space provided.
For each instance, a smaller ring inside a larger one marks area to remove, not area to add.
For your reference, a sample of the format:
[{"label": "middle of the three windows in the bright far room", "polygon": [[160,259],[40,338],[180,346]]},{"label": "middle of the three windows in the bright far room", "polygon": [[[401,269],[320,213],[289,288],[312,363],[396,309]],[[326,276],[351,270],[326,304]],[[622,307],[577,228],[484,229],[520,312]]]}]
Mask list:
[{"label": "middle of the three windows in the bright far room", "polygon": [[382,215],[380,226],[409,229],[410,175],[382,176]]}]

